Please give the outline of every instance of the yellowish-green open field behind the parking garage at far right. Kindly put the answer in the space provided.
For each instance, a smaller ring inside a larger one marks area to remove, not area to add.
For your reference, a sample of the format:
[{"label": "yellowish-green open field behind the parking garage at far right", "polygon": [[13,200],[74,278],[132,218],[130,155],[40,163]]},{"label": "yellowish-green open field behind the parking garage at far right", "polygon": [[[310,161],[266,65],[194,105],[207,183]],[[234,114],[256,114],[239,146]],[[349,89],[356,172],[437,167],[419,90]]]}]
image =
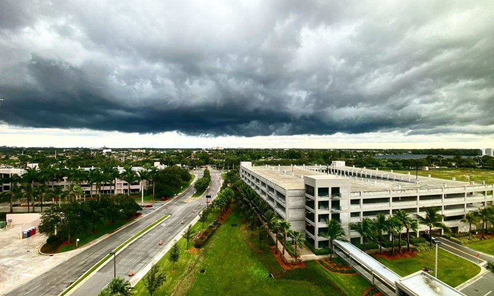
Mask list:
[{"label": "yellowish-green open field behind the parking garage at far right", "polygon": [[[415,170],[393,170],[396,173],[415,175]],[[474,181],[479,183],[485,181],[486,184],[494,184],[494,171],[493,170],[481,170],[481,169],[434,169],[430,171],[418,171],[418,175],[427,177],[430,174],[432,178],[441,178],[452,180],[456,177],[456,181],[470,182]]]}]

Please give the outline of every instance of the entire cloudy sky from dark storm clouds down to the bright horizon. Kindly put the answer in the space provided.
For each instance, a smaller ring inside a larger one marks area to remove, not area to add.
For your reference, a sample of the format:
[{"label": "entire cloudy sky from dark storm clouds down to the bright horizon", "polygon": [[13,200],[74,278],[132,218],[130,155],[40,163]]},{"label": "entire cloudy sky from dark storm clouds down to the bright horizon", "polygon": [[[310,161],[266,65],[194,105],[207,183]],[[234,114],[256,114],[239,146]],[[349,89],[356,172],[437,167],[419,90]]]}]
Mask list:
[{"label": "entire cloudy sky from dark storm clouds down to the bright horizon", "polygon": [[494,1],[0,1],[0,146],[494,146]]}]

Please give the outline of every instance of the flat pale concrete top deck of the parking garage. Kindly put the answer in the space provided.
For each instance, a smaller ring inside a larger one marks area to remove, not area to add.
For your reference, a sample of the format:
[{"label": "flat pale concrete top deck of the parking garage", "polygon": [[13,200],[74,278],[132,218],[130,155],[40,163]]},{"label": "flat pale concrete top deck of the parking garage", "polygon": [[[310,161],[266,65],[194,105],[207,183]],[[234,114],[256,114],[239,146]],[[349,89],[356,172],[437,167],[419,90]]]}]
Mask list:
[{"label": "flat pale concrete top deck of the parking garage", "polygon": [[[360,169],[348,166],[340,166],[338,169],[344,169],[346,171],[354,171],[359,173],[366,173],[368,176],[372,173],[372,178],[362,177],[344,177],[337,175],[328,175],[326,172],[318,172],[316,169],[326,170],[326,166],[252,166],[247,167],[248,170],[253,173],[270,180],[271,182],[283,187],[285,189],[303,189],[304,181],[302,176],[311,176],[314,178],[345,178],[350,179],[350,192],[359,191],[384,191],[384,190],[401,190],[407,189],[428,189],[428,188],[441,188],[446,184],[447,187],[463,187],[471,186],[468,182],[453,181],[439,178],[427,178],[418,176],[418,183],[415,182],[415,175],[391,173],[387,171],[376,171],[370,169]],[[375,179],[375,176],[380,178],[383,174],[383,178]],[[321,176],[321,177],[318,177]],[[324,177],[323,177],[324,176]],[[390,178],[391,180],[387,180]],[[403,178],[403,181],[402,181]],[[410,178],[410,181],[409,181]],[[396,179],[396,180],[393,180]],[[474,184],[481,185],[481,184]],[[483,186],[483,185],[481,185]],[[492,185],[489,185],[492,188]]]}]

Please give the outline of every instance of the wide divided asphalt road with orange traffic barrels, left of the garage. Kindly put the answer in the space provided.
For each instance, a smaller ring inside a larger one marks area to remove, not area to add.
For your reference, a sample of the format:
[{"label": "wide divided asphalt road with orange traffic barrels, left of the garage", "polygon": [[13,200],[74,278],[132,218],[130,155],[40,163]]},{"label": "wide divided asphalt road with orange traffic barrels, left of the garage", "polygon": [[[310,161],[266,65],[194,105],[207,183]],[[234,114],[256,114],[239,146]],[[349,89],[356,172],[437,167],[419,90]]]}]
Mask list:
[{"label": "wide divided asphalt road with orange traffic barrels, left of the garage", "polygon": [[[210,187],[215,187],[215,190],[219,189],[219,172],[210,170],[211,172],[211,184]],[[199,178],[202,176],[202,172],[199,173]],[[149,231],[146,235],[142,236],[139,240],[135,241],[129,245],[122,253],[117,256],[117,275],[124,275],[127,277],[129,269],[133,269],[136,273],[142,266],[145,265],[150,259],[154,257],[158,251],[158,240],[164,238],[164,245],[167,243],[167,239],[174,237],[181,225],[179,222],[184,219],[185,222],[191,221],[192,218],[198,214],[192,213],[193,208],[200,209],[205,204],[201,204],[201,201],[193,201],[185,203],[184,200],[190,197],[194,193],[194,187],[191,186],[185,192],[183,192],[179,197],[165,203],[159,209],[147,214],[145,217],[139,221],[133,223],[132,225],[126,227],[125,229],[119,231],[118,233],[106,238],[98,244],[88,247],[81,253],[75,255],[71,259],[62,262],[61,264],[48,270],[46,273],[34,278],[33,280],[19,286],[10,293],[6,294],[8,296],[44,296],[51,295],[56,296],[62,293],[67,287],[69,287],[73,282],[75,282],[86,270],[90,269],[99,260],[108,255],[111,251],[117,248],[119,245],[124,243],[127,239],[132,237],[134,234],[139,232],[141,229],[145,228],[152,222],[163,217],[165,214],[171,215],[170,218],[165,220],[166,226],[158,226],[152,231]],[[211,194],[215,192],[211,192]],[[204,198],[203,198],[204,199]],[[204,200],[203,200],[204,201]],[[162,203],[156,204],[157,206],[162,205]],[[178,223],[177,223],[178,221]],[[168,227],[167,227],[168,226]],[[149,239],[149,240],[147,240]],[[146,241],[147,240],[147,241]],[[155,242],[156,240],[156,242]],[[144,251],[146,250],[146,251]],[[133,251],[133,252],[132,252]],[[133,257],[135,254],[137,256]],[[142,256],[141,256],[142,255]],[[130,257],[129,257],[130,256]],[[141,256],[141,258],[138,258]],[[130,259],[132,258],[132,259]],[[134,261],[135,260],[135,261]],[[127,266],[130,268],[127,269]],[[104,274],[108,272],[107,269],[111,267],[111,276],[113,277],[113,264],[108,263],[102,271]],[[120,269],[122,268],[122,269]],[[99,278],[101,274],[94,276],[93,278]],[[104,277],[104,276],[102,276]],[[95,286],[94,292],[88,292],[86,295],[97,295],[99,291],[111,280],[104,277],[104,280],[98,281],[99,286]],[[106,281],[106,282],[105,282]],[[89,281],[88,281],[89,282]],[[83,285],[82,288],[84,288]],[[101,286],[101,287],[100,287]],[[85,289],[85,288],[84,288]]]}]

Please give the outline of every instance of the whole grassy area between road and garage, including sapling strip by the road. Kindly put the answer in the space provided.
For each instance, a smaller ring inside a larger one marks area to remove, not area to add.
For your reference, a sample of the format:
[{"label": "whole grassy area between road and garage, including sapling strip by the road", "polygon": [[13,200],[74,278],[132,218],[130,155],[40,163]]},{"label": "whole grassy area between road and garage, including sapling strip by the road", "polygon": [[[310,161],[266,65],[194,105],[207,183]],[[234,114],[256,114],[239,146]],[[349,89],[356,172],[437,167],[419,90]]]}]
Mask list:
[{"label": "whole grassy area between road and garage, including sapling strip by the road", "polygon": [[[211,220],[212,220],[211,215]],[[238,226],[231,226],[238,224]],[[196,223],[194,229],[200,228]],[[371,285],[361,276],[337,275],[326,271],[315,261],[305,262],[306,268],[284,271],[272,255],[266,242],[258,250],[257,236],[241,226],[238,214],[230,216],[198,253],[184,250],[171,272],[171,263],[165,255],[158,264],[165,270],[166,282],[156,295],[350,295],[361,296]],[[205,269],[205,273],[201,273]],[[272,273],[275,278],[270,278]],[[337,284],[335,284],[337,282]],[[135,295],[149,295],[143,282]]]}]

